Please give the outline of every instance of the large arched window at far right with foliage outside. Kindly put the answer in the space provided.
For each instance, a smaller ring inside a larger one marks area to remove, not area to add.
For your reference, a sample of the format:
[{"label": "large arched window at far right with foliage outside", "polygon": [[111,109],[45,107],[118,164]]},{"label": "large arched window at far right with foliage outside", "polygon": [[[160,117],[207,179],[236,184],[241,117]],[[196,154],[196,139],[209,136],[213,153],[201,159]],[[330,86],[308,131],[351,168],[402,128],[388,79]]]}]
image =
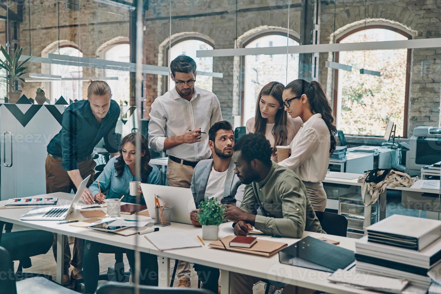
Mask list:
[{"label": "large arched window at far right with foliage outside", "polygon": [[[372,25],[351,30],[337,42],[407,39],[411,35],[402,30]],[[410,49],[337,52],[337,62],[352,66],[352,71],[334,70],[337,128],[345,134],[384,136],[392,120],[396,135],[407,137],[410,58]],[[381,76],[360,74],[361,68],[380,71]]]}]

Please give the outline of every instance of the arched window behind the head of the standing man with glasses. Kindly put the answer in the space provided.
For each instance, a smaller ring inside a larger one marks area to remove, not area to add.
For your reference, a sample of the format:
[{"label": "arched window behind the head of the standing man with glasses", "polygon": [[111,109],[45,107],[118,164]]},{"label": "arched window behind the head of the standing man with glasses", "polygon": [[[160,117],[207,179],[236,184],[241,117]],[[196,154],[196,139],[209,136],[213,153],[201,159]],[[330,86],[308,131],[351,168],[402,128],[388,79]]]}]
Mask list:
[{"label": "arched window behind the head of the standing man with glasses", "polygon": [[[177,41],[170,49],[170,60],[174,60],[181,54],[190,56],[196,62],[196,71],[213,72],[213,57],[196,57],[197,50],[211,50],[213,45],[203,40],[191,37],[190,39],[181,39]],[[168,60],[168,50],[166,51],[167,65],[170,65]],[[196,84],[198,88],[213,91],[213,77],[208,75],[198,74],[196,76]],[[167,90],[172,89],[175,82],[168,78]]]}]

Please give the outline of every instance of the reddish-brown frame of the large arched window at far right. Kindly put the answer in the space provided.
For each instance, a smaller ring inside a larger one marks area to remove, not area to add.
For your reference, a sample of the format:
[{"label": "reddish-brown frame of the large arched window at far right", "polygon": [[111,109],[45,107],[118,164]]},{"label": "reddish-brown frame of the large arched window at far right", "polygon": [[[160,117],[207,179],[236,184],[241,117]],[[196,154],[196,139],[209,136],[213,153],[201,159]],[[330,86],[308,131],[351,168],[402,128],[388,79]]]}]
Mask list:
[{"label": "reddish-brown frame of the large arched window at far right", "polygon": [[[344,33],[340,37],[336,39],[336,43],[340,43],[341,40],[344,38],[352,35],[353,33],[357,33],[362,30],[369,30],[369,29],[385,29],[385,30],[391,30],[393,32],[399,33],[400,35],[403,35],[408,40],[412,39],[412,36],[405,32],[404,30],[400,30],[393,26],[387,26],[387,25],[368,25],[368,26],[360,26],[358,28],[355,28],[353,30],[349,30],[348,32]],[[335,52],[334,60],[335,62],[339,62],[339,53]],[[408,127],[408,119],[409,119],[409,93],[410,93],[410,79],[411,79],[411,59],[412,59],[412,49],[407,49],[407,60],[406,60],[406,86],[404,89],[404,118],[403,118],[403,137],[407,138],[407,127]],[[334,115],[337,113],[337,99],[338,99],[338,70],[334,69],[334,89],[333,89],[333,112]],[[337,118],[336,118],[337,119]],[[349,136],[356,136],[356,137],[369,137],[369,138],[381,138],[381,136],[374,136],[374,135],[360,135],[360,134],[348,134]]]}]

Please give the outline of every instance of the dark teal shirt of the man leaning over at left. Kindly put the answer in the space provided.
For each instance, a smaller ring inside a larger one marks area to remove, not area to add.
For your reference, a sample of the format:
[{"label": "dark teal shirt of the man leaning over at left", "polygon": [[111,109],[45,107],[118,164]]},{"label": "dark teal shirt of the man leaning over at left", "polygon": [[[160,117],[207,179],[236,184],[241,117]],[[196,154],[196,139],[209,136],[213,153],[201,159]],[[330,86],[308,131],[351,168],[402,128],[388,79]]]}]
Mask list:
[{"label": "dark teal shirt of the man leaning over at left", "polygon": [[118,152],[120,142],[115,127],[119,117],[120,107],[115,100],[110,100],[110,108],[101,124],[93,115],[89,100],[72,103],[63,113],[60,133],[49,142],[48,153],[63,158],[61,167],[71,171],[78,169],[78,160],[93,153],[101,138],[109,153]]}]

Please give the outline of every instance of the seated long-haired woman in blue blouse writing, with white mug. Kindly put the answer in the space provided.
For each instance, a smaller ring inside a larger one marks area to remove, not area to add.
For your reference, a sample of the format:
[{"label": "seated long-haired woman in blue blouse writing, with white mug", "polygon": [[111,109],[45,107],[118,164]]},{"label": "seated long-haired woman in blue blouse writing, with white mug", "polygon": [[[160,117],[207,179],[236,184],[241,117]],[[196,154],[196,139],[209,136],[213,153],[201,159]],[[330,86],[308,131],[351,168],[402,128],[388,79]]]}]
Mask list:
[{"label": "seated long-haired woman in blue blouse writing, with white mug", "polygon": [[[135,175],[136,136],[141,137],[140,175]],[[161,183],[161,172],[156,166],[149,165],[150,157],[146,137],[138,133],[128,134],[121,141],[120,156],[114,156],[108,161],[101,175],[90,185],[90,192],[100,202],[105,198],[121,198],[124,195],[121,201],[136,203],[136,194],[142,196],[139,185],[141,182],[155,185]],[[144,197],[141,197],[139,204],[145,205],[145,203]]]}]

